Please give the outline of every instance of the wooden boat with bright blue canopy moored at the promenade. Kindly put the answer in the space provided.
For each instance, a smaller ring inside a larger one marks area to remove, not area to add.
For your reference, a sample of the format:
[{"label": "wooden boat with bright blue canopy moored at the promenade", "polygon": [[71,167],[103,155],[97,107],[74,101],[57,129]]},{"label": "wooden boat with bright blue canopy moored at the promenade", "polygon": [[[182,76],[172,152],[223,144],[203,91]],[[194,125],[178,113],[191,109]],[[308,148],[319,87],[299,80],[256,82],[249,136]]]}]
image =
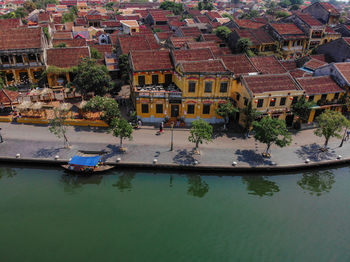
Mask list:
[{"label": "wooden boat with bright blue canopy moored at the promenade", "polygon": [[114,166],[104,165],[100,156],[73,156],[67,165],[62,167],[70,172],[94,173],[112,169]]}]

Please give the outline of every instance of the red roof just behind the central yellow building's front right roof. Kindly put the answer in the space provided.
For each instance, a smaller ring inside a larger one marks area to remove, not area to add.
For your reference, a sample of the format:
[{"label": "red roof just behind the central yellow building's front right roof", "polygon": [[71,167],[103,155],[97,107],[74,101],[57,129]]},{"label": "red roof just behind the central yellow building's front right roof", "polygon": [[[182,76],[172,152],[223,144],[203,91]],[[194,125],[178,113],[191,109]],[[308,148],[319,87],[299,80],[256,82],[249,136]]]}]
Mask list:
[{"label": "red roof just behind the central yellow building's front right roof", "polygon": [[180,61],[201,61],[214,59],[214,55],[209,48],[172,50],[172,55],[175,63],[179,63]]}]

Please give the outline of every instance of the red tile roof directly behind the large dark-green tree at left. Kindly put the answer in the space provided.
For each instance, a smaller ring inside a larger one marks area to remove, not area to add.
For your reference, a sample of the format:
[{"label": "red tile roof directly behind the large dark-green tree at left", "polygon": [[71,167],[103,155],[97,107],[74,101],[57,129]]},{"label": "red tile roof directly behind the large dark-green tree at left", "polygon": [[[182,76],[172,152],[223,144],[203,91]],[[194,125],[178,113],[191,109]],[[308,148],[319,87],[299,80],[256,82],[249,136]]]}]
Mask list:
[{"label": "red tile roof directly behind the large dark-green tree at left", "polygon": [[84,57],[90,57],[89,48],[69,47],[46,49],[47,65],[60,68],[76,66]]}]

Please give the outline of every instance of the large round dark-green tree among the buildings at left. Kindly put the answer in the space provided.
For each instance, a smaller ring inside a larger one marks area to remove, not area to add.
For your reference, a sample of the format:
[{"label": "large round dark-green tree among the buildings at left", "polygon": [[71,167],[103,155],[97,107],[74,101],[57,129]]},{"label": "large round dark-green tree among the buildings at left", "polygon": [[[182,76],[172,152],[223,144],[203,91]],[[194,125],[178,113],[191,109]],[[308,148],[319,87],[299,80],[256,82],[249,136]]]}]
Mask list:
[{"label": "large round dark-green tree among the buildings at left", "polygon": [[97,64],[93,59],[84,58],[74,73],[73,84],[83,97],[89,92],[104,95],[110,89],[111,77],[106,66]]}]

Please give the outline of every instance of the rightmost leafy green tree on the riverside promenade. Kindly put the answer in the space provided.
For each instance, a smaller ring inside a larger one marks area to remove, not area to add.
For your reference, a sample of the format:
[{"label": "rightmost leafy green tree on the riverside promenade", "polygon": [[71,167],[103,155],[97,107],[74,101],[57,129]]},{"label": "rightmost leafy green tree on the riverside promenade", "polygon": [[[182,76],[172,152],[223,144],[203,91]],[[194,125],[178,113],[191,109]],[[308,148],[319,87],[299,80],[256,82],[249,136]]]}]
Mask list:
[{"label": "rightmost leafy green tree on the riverside promenade", "polygon": [[328,146],[331,137],[342,138],[341,131],[346,125],[346,118],[338,111],[326,110],[316,118],[318,128],[315,135],[325,138],[324,148]]}]

